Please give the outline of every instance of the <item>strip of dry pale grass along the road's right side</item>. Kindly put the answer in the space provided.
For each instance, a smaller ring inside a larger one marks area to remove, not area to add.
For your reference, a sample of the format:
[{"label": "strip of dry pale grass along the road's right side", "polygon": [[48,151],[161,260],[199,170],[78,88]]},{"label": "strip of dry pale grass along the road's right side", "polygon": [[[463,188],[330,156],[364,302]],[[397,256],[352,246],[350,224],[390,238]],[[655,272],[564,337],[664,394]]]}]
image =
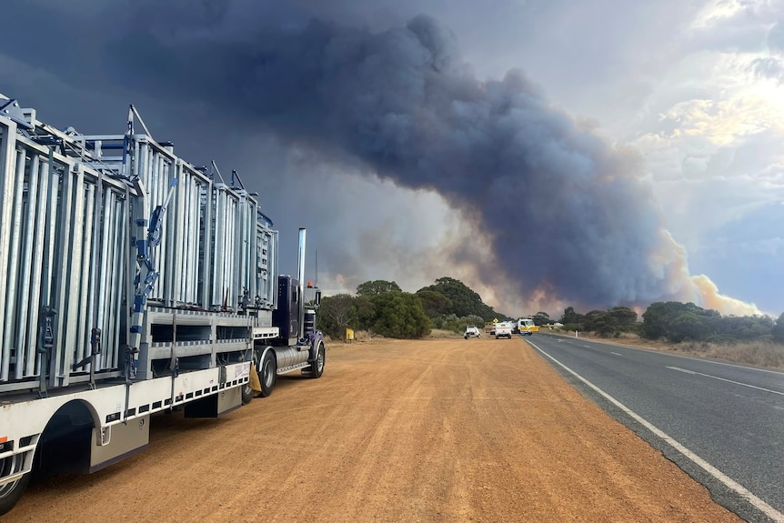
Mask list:
[{"label": "strip of dry pale grass along the road's right side", "polygon": [[629,333],[612,338],[598,337],[594,333],[580,333],[580,337],[629,347],[678,352],[693,357],[706,357],[753,367],[784,369],[784,346],[764,341],[738,342],[732,345],[695,341],[672,343],[664,340],[645,339]]}]

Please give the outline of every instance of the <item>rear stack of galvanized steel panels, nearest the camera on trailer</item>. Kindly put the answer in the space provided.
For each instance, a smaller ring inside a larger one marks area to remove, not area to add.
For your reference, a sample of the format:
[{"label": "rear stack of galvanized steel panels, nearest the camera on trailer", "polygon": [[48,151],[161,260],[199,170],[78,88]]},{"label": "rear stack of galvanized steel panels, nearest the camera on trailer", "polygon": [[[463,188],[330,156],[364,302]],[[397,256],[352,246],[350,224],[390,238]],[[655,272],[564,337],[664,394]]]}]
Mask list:
[{"label": "rear stack of galvanized steel panels, nearest the camera on trailer", "polygon": [[[94,327],[103,333],[95,370],[114,375],[123,337],[126,184],[30,117],[28,136],[0,118],[0,390],[30,388],[42,365],[48,387],[80,380],[74,365],[90,354]],[[56,312],[54,347],[42,352],[45,307]]]}]

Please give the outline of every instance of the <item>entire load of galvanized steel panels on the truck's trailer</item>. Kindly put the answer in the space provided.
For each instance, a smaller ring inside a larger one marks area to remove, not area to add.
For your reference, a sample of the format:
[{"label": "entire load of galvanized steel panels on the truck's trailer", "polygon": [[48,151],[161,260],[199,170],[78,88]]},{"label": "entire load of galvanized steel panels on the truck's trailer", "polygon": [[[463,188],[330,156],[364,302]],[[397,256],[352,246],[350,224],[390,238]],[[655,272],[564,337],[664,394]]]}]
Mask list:
[{"label": "entire load of galvanized steel panels on the truck's trailer", "polygon": [[277,232],[255,196],[216,183],[146,134],[130,136],[124,161],[125,135],[65,135],[25,111],[34,129],[26,136],[0,116],[0,391],[38,381],[43,307],[56,311],[47,387],[88,379],[89,364],[74,366],[90,355],[94,327],[102,332],[95,377],[121,375],[136,223],[171,187],[162,243],[150,253],[160,274],[150,305],[221,317],[256,307],[256,325],[271,325]]}]

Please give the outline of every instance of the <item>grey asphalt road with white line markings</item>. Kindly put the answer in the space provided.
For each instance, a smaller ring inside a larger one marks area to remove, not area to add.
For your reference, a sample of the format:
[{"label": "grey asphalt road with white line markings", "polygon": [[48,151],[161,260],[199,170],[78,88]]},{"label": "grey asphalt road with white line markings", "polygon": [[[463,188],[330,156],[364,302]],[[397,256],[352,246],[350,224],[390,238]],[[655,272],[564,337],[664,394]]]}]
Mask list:
[{"label": "grey asphalt road with white line markings", "polygon": [[749,521],[784,520],[784,373],[575,337],[527,340],[719,503]]}]

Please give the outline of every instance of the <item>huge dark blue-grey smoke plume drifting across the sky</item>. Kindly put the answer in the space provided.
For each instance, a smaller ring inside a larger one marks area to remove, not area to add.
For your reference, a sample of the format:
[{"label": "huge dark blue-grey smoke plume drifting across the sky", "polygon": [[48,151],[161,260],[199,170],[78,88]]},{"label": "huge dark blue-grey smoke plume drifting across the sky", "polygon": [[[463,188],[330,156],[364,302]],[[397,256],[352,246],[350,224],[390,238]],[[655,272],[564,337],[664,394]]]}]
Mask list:
[{"label": "huge dark blue-grey smoke plume drifting across the sky", "polygon": [[112,25],[106,70],[437,191],[487,235],[495,263],[481,276],[506,277],[498,294],[584,307],[715,294],[689,277],[636,154],[550,106],[519,71],[477,80],[432,18],[372,32],[229,5],[130,4]]}]

